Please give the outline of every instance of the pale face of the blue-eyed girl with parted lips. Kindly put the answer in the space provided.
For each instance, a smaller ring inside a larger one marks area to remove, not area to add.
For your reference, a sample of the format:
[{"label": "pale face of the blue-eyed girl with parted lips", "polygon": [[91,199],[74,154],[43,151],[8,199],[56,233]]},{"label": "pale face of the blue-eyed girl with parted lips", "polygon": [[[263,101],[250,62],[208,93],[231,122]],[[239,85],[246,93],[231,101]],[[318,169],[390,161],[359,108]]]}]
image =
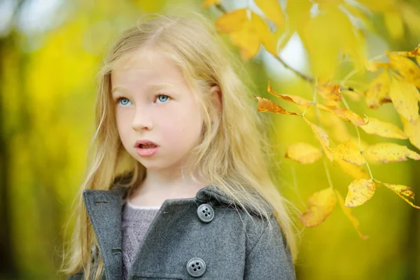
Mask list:
[{"label": "pale face of the blue-eyed girl with parted lips", "polygon": [[181,69],[155,52],[133,52],[111,72],[111,92],[128,153],[146,169],[179,170],[203,126],[199,100]]}]

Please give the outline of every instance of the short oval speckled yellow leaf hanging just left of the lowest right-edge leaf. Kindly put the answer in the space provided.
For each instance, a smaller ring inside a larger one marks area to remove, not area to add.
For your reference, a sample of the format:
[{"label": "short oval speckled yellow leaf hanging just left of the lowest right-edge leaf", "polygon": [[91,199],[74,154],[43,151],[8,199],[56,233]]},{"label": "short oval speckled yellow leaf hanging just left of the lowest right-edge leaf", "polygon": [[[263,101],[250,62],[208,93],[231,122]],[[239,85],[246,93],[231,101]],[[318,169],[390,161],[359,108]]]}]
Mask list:
[{"label": "short oval speckled yellow leaf hanging just left of the lowest right-edge leaf", "polygon": [[365,204],[374,195],[375,183],[372,179],[356,179],[351,182],[346,196],[345,207]]}]

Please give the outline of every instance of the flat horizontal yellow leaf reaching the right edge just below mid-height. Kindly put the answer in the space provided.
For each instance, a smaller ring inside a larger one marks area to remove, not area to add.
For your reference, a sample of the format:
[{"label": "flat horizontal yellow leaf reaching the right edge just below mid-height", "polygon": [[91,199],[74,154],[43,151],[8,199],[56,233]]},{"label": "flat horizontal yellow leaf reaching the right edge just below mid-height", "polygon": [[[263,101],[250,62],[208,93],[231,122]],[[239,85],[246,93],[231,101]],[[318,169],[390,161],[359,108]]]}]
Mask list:
[{"label": "flat horizontal yellow leaf reaching the right edge just below mid-height", "polygon": [[407,160],[407,158],[420,160],[418,153],[411,151],[406,146],[394,143],[373,144],[363,151],[363,155],[367,160],[376,162],[402,162]]}]

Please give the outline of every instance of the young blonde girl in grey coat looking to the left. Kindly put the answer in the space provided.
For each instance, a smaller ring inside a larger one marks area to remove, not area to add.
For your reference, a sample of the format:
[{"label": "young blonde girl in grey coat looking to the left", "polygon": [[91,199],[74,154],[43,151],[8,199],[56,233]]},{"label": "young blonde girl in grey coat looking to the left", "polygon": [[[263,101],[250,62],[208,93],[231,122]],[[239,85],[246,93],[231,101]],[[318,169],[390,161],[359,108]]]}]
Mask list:
[{"label": "young blonde girl in grey coat looking to the left", "polygon": [[111,48],[70,279],[295,279],[255,99],[212,25],[155,16]]}]

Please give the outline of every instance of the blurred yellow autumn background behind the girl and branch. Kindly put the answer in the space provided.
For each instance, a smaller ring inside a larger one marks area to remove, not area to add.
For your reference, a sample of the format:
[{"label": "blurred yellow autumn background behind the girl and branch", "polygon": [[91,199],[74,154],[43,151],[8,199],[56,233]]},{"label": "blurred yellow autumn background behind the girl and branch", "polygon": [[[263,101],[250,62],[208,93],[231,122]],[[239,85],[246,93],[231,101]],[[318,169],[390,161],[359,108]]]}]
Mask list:
[{"label": "blurred yellow autumn background behind the girl and branch", "polygon": [[[65,278],[57,273],[62,244],[68,239],[63,227],[83,181],[87,146],[94,130],[95,74],[104,52],[120,31],[145,13],[186,5],[216,20],[220,11],[204,9],[203,2],[0,0],[0,279]],[[286,1],[280,2],[286,6]],[[342,1],[310,2],[316,6],[317,2]],[[368,1],[343,2],[357,6]],[[388,10],[381,8],[381,1],[370,2],[379,8],[367,11],[371,26],[362,28],[368,58],[385,50],[412,50],[420,43],[420,24],[416,25],[420,22],[420,1],[388,0],[385,2],[392,4]],[[255,8],[251,0],[221,3],[227,10]],[[397,7],[407,7],[411,21],[404,13],[390,15]],[[326,30],[318,31],[323,38]],[[228,36],[225,38],[229,43]],[[236,48],[232,49],[239,57]],[[298,36],[292,36],[280,56],[296,69],[310,73],[309,55]],[[267,80],[271,80],[276,92],[311,98],[310,87],[264,50],[245,66],[256,95],[267,97]],[[349,70],[344,65],[337,75],[345,76]],[[352,79],[363,87],[372,77],[360,73]],[[374,111],[363,102],[349,103],[362,115],[401,127],[390,104]],[[316,139],[300,118],[266,115],[271,122],[267,129],[272,131],[273,168],[279,188],[304,211],[307,197],[328,187],[324,167],[321,162],[298,165],[283,155],[290,144],[316,144]],[[355,136],[353,127],[346,126]],[[367,143],[383,141],[364,132],[361,137]],[[406,140],[394,142],[419,152]],[[335,187],[346,195],[351,177],[334,165],[329,168]],[[372,172],[381,181],[410,186],[420,195],[419,162],[372,165]],[[363,234],[370,238],[360,239],[337,205],[324,223],[302,231],[297,279],[420,279],[419,210],[391,191],[378,188],[372,200],[353,209],[353,214]]]}]

